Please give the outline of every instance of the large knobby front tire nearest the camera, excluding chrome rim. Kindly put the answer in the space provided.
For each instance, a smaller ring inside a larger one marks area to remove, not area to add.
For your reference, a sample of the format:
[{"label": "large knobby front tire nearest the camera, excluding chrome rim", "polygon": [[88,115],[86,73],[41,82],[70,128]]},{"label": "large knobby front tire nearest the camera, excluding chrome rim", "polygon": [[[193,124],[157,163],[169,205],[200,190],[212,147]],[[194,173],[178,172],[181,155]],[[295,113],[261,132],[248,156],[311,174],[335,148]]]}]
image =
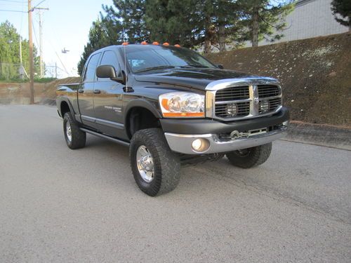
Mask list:
[{"label": "large knobby front tire nearest the camera, excluding chrome rim", "polygon": [[[136,154],[143,145],[150,151],[154,163],[154,177],[151,182],[143,180],[137,166]],[[157,196],[177,187],[180,180],[180,160],[169,148],[161,129],[138,130],[131,139],[129,157],[135,182],[145,194]]]}]

